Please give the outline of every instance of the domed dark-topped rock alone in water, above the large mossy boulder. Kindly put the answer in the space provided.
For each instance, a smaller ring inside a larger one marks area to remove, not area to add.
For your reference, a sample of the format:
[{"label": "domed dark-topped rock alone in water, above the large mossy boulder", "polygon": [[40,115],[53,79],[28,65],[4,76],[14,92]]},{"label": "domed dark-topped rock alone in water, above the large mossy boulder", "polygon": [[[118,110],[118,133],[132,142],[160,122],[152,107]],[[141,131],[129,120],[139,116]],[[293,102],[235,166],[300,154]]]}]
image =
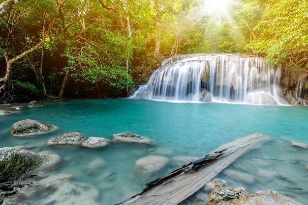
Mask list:
[{"label": "domed dark-topped rock alone in water, above the large mossy boulder", "polygon": [[54,131],[57,127],[47,123],[41,123],[36,120],[21,120],[14,123],[11,127],[11,134],[14,136],[28,136],[34,134],[43,134],[46,132]]}]

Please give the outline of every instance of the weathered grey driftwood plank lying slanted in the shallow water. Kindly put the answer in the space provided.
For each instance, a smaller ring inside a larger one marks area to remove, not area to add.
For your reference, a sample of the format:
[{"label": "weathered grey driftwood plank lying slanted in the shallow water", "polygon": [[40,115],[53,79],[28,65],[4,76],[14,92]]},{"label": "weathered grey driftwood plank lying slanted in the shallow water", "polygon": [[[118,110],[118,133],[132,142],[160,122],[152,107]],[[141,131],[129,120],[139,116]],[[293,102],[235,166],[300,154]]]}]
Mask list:
[{"label": "weathered grey driftwood plank lying slanted in the shallow water", "polygon": [[227,143],[210,154],[146,184],[146,188],[118,205],[177,205],[211,181],[235,159],[270,137],[255,133]]}]

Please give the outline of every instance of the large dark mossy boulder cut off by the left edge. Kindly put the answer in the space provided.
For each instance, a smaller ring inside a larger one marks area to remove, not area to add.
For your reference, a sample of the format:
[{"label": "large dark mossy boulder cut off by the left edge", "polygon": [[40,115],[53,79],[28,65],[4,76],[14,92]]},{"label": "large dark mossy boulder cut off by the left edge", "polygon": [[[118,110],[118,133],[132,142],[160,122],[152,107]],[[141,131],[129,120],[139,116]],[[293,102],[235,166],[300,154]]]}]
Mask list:
[{"label": "large dark mossy boulder cut off by the left edge", "polygon": [[50,168],[59,160],[58,155],[37,154],[18,148],[0,148],[0,182],[16,180],[42,168]]}]

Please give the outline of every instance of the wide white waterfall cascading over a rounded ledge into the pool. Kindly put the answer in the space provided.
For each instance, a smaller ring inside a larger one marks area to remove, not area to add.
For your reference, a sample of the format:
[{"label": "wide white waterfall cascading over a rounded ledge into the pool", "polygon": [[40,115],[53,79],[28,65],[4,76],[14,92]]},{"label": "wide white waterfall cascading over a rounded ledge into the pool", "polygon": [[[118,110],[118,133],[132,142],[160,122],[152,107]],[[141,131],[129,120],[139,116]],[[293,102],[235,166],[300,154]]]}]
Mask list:
[{"label": "wide white waterfall cascading over a rounded ledge into the pool", "polygon": [[131,98],[173,101],[287,104],[281,69],[244,54],[186,54],[165,59]]}]

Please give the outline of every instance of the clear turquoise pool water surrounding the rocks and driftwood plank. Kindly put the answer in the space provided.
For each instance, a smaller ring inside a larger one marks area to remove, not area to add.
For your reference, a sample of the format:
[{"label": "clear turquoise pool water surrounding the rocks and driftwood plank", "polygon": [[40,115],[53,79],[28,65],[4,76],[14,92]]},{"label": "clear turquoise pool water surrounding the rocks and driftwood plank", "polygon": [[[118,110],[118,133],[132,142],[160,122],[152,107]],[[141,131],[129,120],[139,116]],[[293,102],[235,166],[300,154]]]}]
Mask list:
[{"label": "clear turquoise pool water surrounding the rocks and driftwood plank", "polygon": [[[73,176],[65,185],[34,187],[34,192],[28,195],[25,192],[27,197],[19,198],[24,204],[82,204],[83,200],[99,205],[116,204],[141,191],[145,183],[179,168],[181,164],[172,160],[174,156],[201,157],[223,143],[255,132],[274,140],[243,155],[227,168],[252,175],[253,182],[234,179],[228,172],[222,172],[217,178],[225,179],[228,186],[244,187],[251,193],[272,189],[306,203],[308,150],[291,146],[290,141],[308,143],[307,107],[114,99],[45,102],[43,107],[21,110],[1,105],[0,110],[16,112],[0,116],[1,147],[22,145],[34,152],[58,154],[62,162],[48,175]],[[59,129],[31,138],[12,136],[10,127],[24,119],[38,120]],[[108,139],[112,139],[112,134],[131,131],[150,137],[157,145],[111,143],[100,150],[46,146],[48,139],[72,131]],[[162,171],[140,178],[134,172],[135,162],[149,154],[163,155],[170,161]],[[194,195],[184,203],[198,204],[198,200]]]}]

